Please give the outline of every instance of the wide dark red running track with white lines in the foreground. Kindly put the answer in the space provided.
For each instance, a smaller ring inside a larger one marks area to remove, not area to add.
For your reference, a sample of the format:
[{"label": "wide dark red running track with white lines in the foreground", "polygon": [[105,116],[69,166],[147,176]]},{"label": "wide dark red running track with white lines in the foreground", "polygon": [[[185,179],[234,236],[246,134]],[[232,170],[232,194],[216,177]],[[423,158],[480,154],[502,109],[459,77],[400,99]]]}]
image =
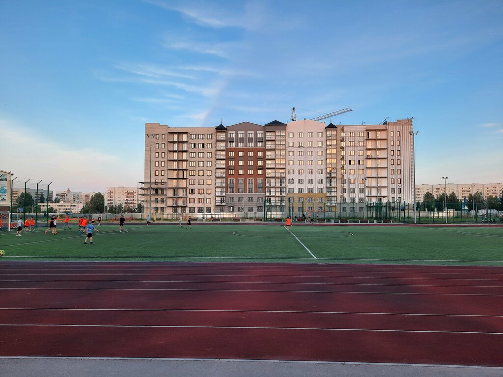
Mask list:
[{"label": "wide dark red running track with white lines in the foreground", "polygon": [[0,264],[0,356],[503,366],[503,269]]}]

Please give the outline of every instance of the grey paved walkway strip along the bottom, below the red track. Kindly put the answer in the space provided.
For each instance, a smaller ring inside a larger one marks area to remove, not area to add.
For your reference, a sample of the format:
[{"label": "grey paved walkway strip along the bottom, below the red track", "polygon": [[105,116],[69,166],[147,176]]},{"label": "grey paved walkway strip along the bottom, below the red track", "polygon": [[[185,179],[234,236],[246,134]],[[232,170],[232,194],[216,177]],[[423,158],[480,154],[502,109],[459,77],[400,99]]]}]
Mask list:
[{"label": "grey paved walkway strip along the bottom, below the red track", "polygon": [[0,357],[0,377],[501,377],[503,368],[342,362]]}]

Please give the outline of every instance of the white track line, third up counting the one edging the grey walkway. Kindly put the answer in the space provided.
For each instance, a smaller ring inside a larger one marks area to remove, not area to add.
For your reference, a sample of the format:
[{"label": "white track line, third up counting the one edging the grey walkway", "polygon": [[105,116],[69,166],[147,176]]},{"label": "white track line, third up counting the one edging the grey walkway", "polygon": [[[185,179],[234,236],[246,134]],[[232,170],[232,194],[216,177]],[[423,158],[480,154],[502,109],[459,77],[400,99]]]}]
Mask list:
[{"label": "white track line, third up counting the one edging the grey walkway", "polygon": [[436,313],[379,313],[379,312],[330,312],[307,310],[226,310],[226,309],[98,309],[98,308],[0,308],[0,310],[54,310],[54,311],[112,311],[112,312],[224,312],[224,313],[285,313],[285,314],[355,314],[386,316],[425,316],[425,317],[494,317],[503,315],[489,314],[436,314]]}]

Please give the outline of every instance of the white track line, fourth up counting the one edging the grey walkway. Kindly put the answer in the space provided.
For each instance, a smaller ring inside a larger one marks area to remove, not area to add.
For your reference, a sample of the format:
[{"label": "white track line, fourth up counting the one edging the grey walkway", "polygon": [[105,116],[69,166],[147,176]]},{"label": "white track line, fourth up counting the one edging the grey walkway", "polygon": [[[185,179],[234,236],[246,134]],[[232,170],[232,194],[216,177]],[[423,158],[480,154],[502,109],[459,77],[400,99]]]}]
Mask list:
[{"label": "white track line, fourth up counting the one edging the grey walkway", "polygon": [[492,296],[503,297],[503,294],[489,293],[431,293],[431,292],[368,292],[368,291],[305,291],[305,290],[232,290],[232,289],[190,289],[190,288],[40,288],[19,287],[2,288],[2,290],[35,290],[35,291],[183,291],[183,292],[274,292],[274,293],[341,293],[367,295],[424,295],[424,296]]}]

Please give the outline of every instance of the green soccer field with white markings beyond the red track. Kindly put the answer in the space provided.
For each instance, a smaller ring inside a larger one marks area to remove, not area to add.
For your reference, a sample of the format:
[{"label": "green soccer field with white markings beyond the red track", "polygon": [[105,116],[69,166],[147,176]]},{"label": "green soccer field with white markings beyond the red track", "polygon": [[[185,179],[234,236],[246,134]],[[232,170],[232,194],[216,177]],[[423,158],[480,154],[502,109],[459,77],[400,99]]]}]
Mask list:
[{"label": "green soccer field with white markings beyond the red track", "polygon": [[[45,228],[44,228],[45,229]],[[94,245],[77,228],[2,231],[2,260],[244,261],[503,265],[501,227],[104,225]]]}]

